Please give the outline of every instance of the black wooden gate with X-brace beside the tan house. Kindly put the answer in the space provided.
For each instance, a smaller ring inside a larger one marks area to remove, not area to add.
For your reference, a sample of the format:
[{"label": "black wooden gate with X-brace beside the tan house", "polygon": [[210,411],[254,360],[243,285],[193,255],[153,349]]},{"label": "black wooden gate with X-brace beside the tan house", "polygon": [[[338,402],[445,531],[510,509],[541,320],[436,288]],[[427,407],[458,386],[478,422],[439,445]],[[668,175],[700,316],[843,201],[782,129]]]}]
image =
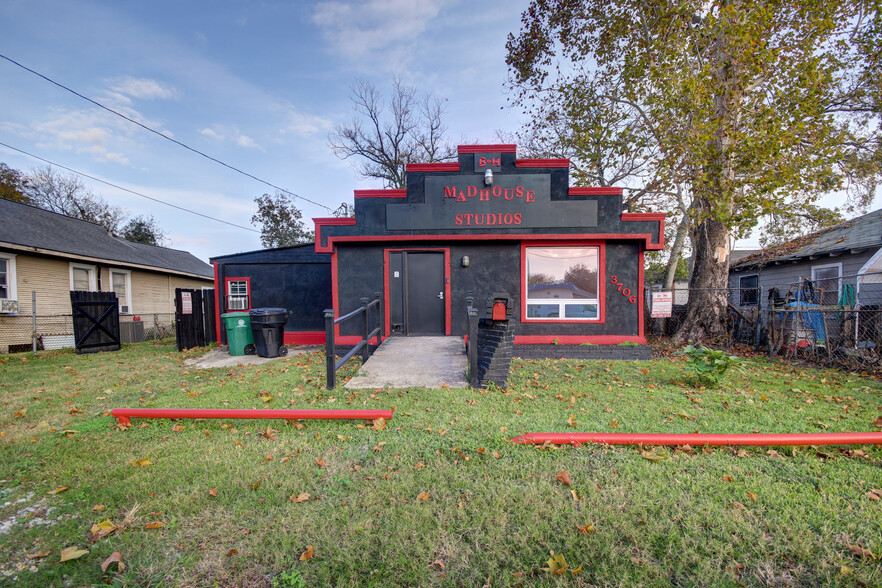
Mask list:
[{"label": "black wooden gate with X-brace beside the tan house", "polygon": [[119,351],[119,303],[113,292],[70,293],[77,353]]}]

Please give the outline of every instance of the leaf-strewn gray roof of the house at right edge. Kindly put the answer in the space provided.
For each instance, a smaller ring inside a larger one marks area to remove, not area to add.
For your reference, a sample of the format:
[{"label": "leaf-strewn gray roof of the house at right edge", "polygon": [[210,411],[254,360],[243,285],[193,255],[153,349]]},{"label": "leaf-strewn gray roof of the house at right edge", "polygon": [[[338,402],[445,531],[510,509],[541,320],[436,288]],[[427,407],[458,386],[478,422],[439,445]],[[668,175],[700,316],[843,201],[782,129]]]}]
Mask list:
[{"label": "leaf-strewn gray roof of the house at right edge", "polygon": [[734,266],[764,265],[770,261],[796,261],[815,255],[882,247],[882,209],[804,235],[783,245],[741,258]]}]

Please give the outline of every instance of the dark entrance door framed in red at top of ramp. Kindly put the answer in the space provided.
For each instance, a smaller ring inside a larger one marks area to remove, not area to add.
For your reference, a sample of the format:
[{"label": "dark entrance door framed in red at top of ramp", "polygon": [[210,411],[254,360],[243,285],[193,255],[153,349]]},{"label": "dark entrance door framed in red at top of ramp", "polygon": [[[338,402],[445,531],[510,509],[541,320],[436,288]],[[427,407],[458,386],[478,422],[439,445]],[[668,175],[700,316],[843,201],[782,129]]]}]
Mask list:
[{"label": "dark entrance door framed in red at top of ramp", "polygon": [[392,331],[443,335],[444,253],[395,251],[389,254],[389,318]]}]

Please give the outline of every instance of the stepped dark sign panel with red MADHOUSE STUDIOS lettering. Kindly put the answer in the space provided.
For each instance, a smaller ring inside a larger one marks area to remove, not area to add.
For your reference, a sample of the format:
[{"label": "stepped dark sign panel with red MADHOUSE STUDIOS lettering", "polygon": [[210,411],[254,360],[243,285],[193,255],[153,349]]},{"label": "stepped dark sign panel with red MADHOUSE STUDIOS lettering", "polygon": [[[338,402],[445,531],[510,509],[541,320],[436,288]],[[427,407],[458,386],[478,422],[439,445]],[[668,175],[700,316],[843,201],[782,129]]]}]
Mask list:
[{"label": "stepped dark sign panel with red MADHOUSE STUDIOS lettering", "polygon": [[386,229],[445,231],[596,227],[597,202],[551,200],[549,174],[425,178],[425,203],[387,204]]}]

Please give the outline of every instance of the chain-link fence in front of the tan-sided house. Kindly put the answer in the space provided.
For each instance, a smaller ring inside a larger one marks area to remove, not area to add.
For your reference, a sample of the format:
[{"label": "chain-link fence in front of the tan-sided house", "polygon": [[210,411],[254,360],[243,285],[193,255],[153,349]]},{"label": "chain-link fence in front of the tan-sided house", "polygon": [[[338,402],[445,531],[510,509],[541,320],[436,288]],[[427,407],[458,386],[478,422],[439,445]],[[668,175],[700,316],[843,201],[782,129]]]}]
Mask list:
[{"label": "chain-link fence in front of the tan-sided house", "polygon": [[[174,313],[120,315],[123,343],[156,340],[175,335]],[[140,323],[138,326],[136,323]],[[74,347],[71,314],[0,315],[0,353],[24,353]]]}]

